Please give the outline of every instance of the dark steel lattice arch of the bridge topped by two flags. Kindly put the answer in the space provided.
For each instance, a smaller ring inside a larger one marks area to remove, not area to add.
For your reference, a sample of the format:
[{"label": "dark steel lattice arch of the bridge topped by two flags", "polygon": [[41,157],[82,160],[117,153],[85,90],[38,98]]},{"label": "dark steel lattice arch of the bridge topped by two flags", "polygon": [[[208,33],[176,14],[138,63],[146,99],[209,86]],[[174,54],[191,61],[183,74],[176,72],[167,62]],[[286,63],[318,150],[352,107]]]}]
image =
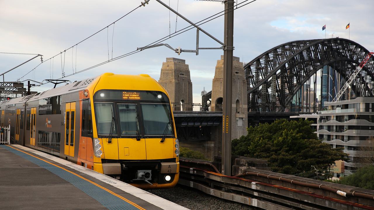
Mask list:
[{"label": "dark steel lattice arch of the bridge topped by two flags", "polygon": [[[339,87],[345,83],[368,53],[369,51],[360,44],[344,38],[290,41],[273,47],[244,66],[248,109],[249,111],[318,111],[321,109],[321,103],[319,103],[320,107],[316,106],[316,94],[313,95],[313,99],[309,99],[304,93],[305,89],[307,94],[311,90],[311,79],[317,81],[317,72],[327,66],[332,68],[333,74],[336,74],[334,76],[338,78],[338,84],[333,84],[337,87],[330,96],[333,98]],[[316,83],[313,85],[316,93]],[[373,96],[373,56],[362,68],[353,81],[351,90],[347,91],[343,98],[349,98],[351,93],[355,96]]]}]

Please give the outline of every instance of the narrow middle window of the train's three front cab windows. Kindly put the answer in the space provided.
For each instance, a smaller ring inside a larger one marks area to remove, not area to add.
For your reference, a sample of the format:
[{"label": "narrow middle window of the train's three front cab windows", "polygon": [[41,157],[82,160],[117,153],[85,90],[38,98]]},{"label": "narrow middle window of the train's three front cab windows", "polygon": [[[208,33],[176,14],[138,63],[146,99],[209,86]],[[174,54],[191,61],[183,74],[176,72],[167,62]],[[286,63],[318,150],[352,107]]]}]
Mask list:
[{"label": "narrow middle window of the train's three front cab windows", "polygon": [[135,104],[118,104],[121,135],[137,135],[138,115]]}]

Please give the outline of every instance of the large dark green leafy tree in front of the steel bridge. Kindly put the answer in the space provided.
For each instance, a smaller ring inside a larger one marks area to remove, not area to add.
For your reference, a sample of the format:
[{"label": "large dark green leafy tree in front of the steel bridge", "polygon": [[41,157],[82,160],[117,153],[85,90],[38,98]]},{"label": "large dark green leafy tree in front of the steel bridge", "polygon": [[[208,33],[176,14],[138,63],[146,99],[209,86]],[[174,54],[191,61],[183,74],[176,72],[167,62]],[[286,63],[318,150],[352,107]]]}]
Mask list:
[{"label": "large dark green leafy tree in front of the steel bridge", "polygon": [[346,160],[343,148],[331,148],[313,133],[312,121],[276,120],[248,128],[248,135],[232,142],[232,154],[268,161],[274,172],[297,174],[323,169],[335,160]]}]

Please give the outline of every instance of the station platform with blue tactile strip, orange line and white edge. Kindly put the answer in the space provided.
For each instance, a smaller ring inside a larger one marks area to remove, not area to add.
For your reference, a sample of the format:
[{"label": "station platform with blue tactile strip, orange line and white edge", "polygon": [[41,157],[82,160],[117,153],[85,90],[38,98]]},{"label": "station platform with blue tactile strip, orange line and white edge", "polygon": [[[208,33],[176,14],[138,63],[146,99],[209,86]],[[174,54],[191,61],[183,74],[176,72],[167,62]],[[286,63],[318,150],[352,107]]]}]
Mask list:
[{"label": "station platform with blue tactile strip, orange line and white edge", "polygon": [[0,145],[0,209],[186,208],[85,167],[20,145]]}]

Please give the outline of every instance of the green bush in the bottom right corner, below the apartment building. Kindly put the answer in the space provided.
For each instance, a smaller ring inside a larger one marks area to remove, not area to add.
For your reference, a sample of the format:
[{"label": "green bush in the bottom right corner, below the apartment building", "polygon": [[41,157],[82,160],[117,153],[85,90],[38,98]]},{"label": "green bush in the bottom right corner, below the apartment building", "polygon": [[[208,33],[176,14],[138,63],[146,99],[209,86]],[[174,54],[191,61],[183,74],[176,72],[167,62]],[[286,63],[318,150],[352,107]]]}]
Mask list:
[{"label": "green bush in the bottom right corner, below the apartment building", "polygon": [[362,167],[356,173],[344,176],[338,183],[365,189],[374,189],[374,166]]}]

